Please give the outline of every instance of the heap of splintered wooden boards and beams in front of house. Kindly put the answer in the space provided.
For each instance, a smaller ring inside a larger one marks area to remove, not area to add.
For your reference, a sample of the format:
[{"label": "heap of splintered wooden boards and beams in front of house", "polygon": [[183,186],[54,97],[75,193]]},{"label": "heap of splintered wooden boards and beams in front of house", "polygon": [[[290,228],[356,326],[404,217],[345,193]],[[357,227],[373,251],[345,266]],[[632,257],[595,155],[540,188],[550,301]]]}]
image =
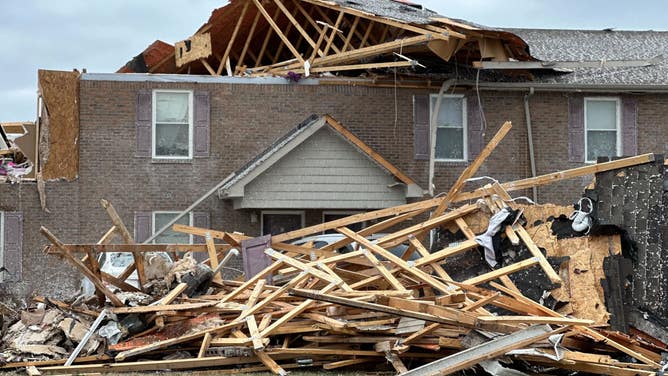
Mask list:
[{"label": "heap of splintered wooden boards and beams in front of house", "polygon": [[[77,267],[107,305],[94,309],[42,299],[61,315],[85,317],[88,330],[69,338],[75,349],[52,357],[59,359],[6,367],[27,366],[42,374],[215,369],[221,374],[269,370],[283,375],[301,367],[388,367],[414,375],[451,374],[472,367],[492,374],[504,368],[524,374],[564,370],[656,374],[665,345],[606,330],[605,306],[597,292],[600,274],[594,270],[598,261],[589,257],[592,263],[586,264],[577,255],[583,244],[594,249],[598,241],[613,244],[606,252],[614,252],[619,237],[584,236],[564,243],[544,232],[548,214],[558,216],[565,209],[517,205],[508,190],[525,188],[527,182],[492,183],[461,192],[509,128],[502,128],[445,197],[272,237],[175,225],[177,231],[204,236],[206,244],[133,244],[107,202],[114,225],[98,244],[63,244],[43,228],[52,243],[47,251]],[[586,168],[615,169],[648,158]],[[561,176],[587,173],[591,171],[569,170]],[[539,177],[531,184],[550,180]],[[462,197],[474,200],[461,204]],[[499,238],[504,251],[512,250],[514,256],[504,256],[495,268],[456,278],[461,264],[450,260],[473,255],[484,265],[476,233],[485,232],[490,218],[507,210],[515,214],[501,227]],[[375,224],[358,232],[349,229],[372,220]],[[460,237],[428,249],[429,232],[446,228]],[[293,244],[327,230],[336,230],[341,240],[321,248]],[[113,234],[120,234],[126,244],[107,244]],[[369,240],[373,234],[383,235]],[[586,242],[572,243],[577,239]],[[338,251],[347,245],[352,250]],[[235,249],[243,250],[245,257],[264,260],[266,267],[239,280],[223,279],[220,266]],[[198,264],[187,256],[163,273],[153,273],[144,257],[147,252],[186,250],[208,252],[209,260]],[[96,252],[112,251],[134,252],[135,263],[120,276],[101,272],[97,265]],[[135,269],[141,289],[152,294],[148,302],[137,299],[142,296],[140,289],[125,282]],[[544,296],[528,297],[531,293],[522,283],[526,273],[547,281],[552,300],[559,304],[548,304]],[[136,305],[128,306],[119,291],[126,298],[127,293],[135,294],[130,296]],[[595,309],[589,309],[589,300],[598,302]],[[105,345],[96,352],[91,341]]]}]

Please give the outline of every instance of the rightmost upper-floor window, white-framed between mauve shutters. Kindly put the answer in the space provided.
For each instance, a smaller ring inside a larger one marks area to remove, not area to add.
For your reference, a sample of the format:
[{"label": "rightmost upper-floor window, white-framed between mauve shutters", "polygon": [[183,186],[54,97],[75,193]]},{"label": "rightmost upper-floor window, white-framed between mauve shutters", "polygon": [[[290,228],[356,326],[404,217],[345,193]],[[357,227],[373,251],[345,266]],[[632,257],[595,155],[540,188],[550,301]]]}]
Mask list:
[{"label": "rightmost upper-floor window, white-framed between mauve shutters", "polygon": [[618,98],[585,98],[585,160],[621,155]]}]

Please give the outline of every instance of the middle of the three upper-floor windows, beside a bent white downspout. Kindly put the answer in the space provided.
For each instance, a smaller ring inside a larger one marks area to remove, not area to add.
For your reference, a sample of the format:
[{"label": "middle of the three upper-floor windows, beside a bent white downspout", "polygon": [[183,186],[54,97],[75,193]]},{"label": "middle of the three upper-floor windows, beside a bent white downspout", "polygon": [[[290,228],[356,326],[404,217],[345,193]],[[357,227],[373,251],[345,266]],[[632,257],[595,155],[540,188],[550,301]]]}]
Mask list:
[{"label": "middle of the three upper-floor windows, beside a bent white downspout", "polygon": [[[438,95],[430,97],[430,119]],[[465,161],[468,156],[466,136],[466,101],[463,95],[444,95],[436,117],[437,161]]]}]

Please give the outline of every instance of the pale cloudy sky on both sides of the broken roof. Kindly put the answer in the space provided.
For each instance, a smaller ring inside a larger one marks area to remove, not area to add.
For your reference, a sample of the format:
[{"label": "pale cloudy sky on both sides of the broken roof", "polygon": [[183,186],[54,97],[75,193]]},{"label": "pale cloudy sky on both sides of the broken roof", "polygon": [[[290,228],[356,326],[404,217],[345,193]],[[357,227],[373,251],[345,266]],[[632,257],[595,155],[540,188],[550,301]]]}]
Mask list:
[{"label": "pale cloudy sky on both sides of the broken roof", "polygon": [[[414,0],[488,26],[666,30],[662,0]],[[114,72],[156,39],[187,38],[226,0],[0,1],[0,122],[34,120],[37,69]]]}]

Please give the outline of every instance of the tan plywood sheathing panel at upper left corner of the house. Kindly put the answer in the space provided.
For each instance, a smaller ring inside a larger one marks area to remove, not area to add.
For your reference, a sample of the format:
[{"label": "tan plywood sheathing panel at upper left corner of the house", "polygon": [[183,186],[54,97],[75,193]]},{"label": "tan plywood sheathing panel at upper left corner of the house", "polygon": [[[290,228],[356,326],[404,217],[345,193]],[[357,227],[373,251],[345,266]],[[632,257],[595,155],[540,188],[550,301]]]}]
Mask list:
[{"label": "tan plywood sheathing panel at upper left corner of the house", "polygon": [[43,99],[40,156],[45,180],[73,180],[79,173],[79,72],[39,70]]}]

